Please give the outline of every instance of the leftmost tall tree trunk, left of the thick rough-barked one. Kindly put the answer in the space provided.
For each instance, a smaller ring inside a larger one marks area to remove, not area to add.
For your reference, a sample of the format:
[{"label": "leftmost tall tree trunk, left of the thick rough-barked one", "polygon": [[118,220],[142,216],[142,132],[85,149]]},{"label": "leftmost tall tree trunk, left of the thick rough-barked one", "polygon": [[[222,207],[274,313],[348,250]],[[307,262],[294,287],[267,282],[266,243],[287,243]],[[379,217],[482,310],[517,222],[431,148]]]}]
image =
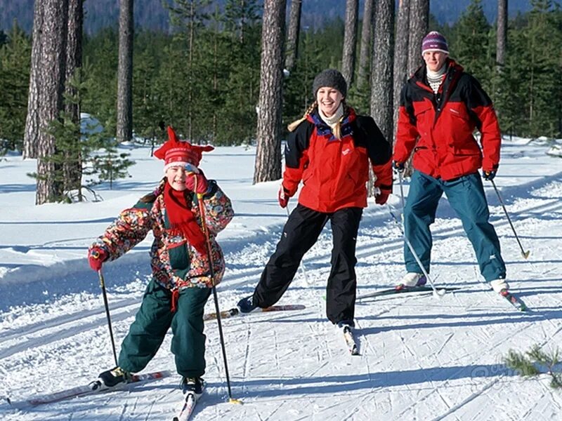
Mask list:
[{"label": "leftmost tall tree trunk, left of the thick rough-barked one", "polygon": [[27,96],[27,116],[23,136],[23,158],[37,158],[37,137],[39,136],[39,77],[41,76],[41,32],[43,31],[44,7],[35,1],[33,9],[33,39],[30,69],[30,93]]}]

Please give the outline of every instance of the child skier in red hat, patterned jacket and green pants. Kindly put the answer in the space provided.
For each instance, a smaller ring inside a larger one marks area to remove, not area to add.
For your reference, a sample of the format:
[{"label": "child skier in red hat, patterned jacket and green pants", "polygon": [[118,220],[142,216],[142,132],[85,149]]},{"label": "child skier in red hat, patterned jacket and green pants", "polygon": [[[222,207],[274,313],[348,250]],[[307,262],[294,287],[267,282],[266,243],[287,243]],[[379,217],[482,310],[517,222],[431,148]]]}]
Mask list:
[{"label": "child skier in red hat, patterned jacket and green pants", "polygon": [[[228,225],[234,212],[216,182],[207,180],[197,168],[202,152],[214,148],[178,140],[172,128],[168,128],[168,135],[167,142],[155,152],[164,160],[162,182],[132,208],[123,210],[89,248],[89,264],[98,272],[104,262],[119,258],[143,241],[150,230],[154,235],[150,249],[152,279],[122,342],[119,366],[99,377],[106,387],[126,382],[131,373],[143,370],[155,356],[171,327],[171,352],[183,377],[182,391],[200,395],[205,370],[204,307],[225,268],[215,236]],[[204,215],[198,200],[202,200]],[[214,279],[202,224],[209,236]]]}]

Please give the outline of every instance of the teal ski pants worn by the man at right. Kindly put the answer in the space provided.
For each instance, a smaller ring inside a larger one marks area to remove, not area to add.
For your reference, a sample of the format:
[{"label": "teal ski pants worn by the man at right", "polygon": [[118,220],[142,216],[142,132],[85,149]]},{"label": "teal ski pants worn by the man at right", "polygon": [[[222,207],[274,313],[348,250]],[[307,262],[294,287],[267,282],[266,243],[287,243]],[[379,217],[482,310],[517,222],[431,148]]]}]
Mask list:
[{"label": "teal ski pants worn by the man at right", "polygon": [[[504,279],[505,263],[495,229],[488,222],[488,201],[478,173],[450,181],[436,179],[419,171],[412,174],[404,208],[404,229],[421,264],[429,273],[433,246],[429,225],[435,221],[437,205],[443,193],[462,222],[484,279],[488,282]],[[404,244],[404,260],[407,272],[421,272],[407,244]]]}]

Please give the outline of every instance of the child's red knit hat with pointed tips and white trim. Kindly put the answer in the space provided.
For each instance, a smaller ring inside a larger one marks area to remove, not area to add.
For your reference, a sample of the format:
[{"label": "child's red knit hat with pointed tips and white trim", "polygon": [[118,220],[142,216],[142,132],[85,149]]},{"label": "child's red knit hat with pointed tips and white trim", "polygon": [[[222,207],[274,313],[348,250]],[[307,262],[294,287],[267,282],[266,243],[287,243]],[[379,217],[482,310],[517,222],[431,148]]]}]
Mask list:
[{"label": "child's red knit hat with pointed tips and white trim", "polygon": [[191,163],[199,166],[203,152],[210,152],[211,145],[191,145],[187,140],[180,140],[171,126],[168,126],[168,140],[154,152],[158,159],[164,159],[164,173],[171,166],[185,166]]}]

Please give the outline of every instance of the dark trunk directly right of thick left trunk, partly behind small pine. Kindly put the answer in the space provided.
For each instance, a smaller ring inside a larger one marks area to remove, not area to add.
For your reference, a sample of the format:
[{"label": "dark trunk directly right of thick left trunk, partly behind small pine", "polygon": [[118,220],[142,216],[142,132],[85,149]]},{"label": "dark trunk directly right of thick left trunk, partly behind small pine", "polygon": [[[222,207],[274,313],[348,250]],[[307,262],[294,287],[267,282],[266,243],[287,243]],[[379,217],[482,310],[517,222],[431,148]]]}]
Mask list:
[{"label": "dark trunk directly right of thick left trunk, partly behind small pine", "polygon": [[[68,0],[68,32],[66,44],[66,86],[67,95],[73,97],[78,94],[76,87],[70,85],[70,80],[76,75],[77,69],[82,67],[82,25],[84,23],[83,5],[84,0]],[[80,102],[67,101],[65,111],[72,119],[77,127],[76,138],[74,139],[79,145],[80,142]],[[65,156],[64,175],[65,190],[78,189],[78,200],[81,201],[80,185],[82,179],[82,163],[79,153],[79,147],[72,148],[72,152],[68,152]]]}]

